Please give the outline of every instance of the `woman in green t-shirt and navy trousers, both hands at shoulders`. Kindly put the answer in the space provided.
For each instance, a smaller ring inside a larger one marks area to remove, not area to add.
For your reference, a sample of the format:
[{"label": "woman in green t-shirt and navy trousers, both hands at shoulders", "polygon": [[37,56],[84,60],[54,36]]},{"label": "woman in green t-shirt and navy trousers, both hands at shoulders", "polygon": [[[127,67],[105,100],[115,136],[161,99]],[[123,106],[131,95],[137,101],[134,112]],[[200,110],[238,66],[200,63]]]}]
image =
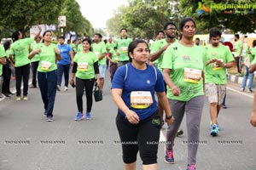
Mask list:
[{"label": "woman in green t-shirt and navy trousers, both hands at shoulders", "polygon": [[44,102],[44,116],[47,122],[53,121],[53,109],[57,89],[57,66],[56,60],[61,60],[61,53],[56,44],[51,43],[52,32],[45,31],[43,43],[33,50],[28,58],[32,59],[38,54],[38,85]]}]

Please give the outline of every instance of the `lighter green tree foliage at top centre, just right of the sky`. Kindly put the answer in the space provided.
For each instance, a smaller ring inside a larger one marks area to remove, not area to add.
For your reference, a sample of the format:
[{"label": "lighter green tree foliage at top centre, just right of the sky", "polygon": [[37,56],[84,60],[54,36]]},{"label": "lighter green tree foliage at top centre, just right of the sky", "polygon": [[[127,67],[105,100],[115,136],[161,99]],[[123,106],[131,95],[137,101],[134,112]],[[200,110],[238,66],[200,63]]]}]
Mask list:
[{"label": "lighter green tree foliage at top centre, just right of the sky", "polygon": [[125,27],[130,37],[154,38],[157,31],[163,30],[166,21],[177,22],[182,14],[178,13],[176,0],[130,0],[128,7],[108,20],[108,31],[119,35]]}]

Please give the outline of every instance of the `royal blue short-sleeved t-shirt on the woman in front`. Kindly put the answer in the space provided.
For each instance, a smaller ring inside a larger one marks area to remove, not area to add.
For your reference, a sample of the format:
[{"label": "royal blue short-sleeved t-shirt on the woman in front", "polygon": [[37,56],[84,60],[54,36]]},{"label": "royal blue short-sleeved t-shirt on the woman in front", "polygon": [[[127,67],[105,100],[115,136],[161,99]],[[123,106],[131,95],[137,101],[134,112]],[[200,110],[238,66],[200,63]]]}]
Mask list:
[{"label": "royal blue short-sleeved t-shirt on the woman in front", "polygon": [[[165,92],[165,83],[160,71],[154,69],[153,66],[147,64],[147,69],[142,71],[137,70],[129,63],[127,64],[127,69],[126,65],[122,65],[115,72],[112,88],[123,89],[121,97],[125,105],[127,105],[131,111],[135,111],[140,120],[143,120],[157,111],[157,102],[154,97],[154,92]],[[133,91],[149,91],[153,99],[153,104],[146,109],[135,109],[131,107],[131,92]],[[123,111],[119,110],[119,113],[125,116]]]}]

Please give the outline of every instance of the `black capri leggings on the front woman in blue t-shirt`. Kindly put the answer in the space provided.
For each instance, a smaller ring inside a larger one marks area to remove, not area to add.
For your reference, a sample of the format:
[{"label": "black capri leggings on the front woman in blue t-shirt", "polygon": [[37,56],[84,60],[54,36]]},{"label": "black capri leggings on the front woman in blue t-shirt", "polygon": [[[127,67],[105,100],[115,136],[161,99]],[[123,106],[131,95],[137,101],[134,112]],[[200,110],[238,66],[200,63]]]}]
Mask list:
[{"label": "black capri leggings on the front woman in blue t-shirt", "polygon": [[118,113],[116,116],[116,126],[123,149],[123,161],[132,163],[137,161],[137,152],[143,160],[143,165],[157,163],[157,151],[160,138],[160,116],[155,111],[138,124],[131,124]]}]

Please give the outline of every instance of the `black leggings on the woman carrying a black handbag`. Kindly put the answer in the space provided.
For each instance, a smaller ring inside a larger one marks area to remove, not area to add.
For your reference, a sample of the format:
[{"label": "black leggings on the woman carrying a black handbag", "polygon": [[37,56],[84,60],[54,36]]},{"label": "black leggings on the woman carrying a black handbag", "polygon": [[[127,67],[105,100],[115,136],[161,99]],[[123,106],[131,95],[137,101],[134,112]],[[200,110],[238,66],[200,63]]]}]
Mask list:
[{"label": "black leggings on the woman carrying a black handbag", "polygon": [[76,77],[76,94],[77,94],[77,105],[79,112],[83,112],[83,95],[85,88],[85,96],[86,96],[86,111],[91,111],[92,106],[92,90],[95,82],[95,78],[91,79],[80,79]]}]

